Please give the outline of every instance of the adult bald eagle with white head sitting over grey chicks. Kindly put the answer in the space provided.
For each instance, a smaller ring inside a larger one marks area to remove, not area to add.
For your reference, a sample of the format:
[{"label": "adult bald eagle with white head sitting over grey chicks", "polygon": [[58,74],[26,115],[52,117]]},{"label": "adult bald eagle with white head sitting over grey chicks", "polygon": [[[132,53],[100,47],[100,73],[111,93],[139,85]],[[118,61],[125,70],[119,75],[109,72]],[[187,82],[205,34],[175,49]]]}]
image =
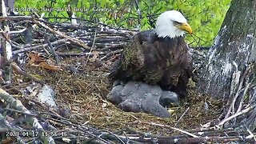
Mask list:
[{"label": "adult bald eagle with white head sitting over grey chicks", "polygon": [[154,30],[139,32],[128,42],[108,78],[112,82],[146,82],[186,96],[192,74],[186,32],[192,34],[192,29],[180,12],[160,14]]}]

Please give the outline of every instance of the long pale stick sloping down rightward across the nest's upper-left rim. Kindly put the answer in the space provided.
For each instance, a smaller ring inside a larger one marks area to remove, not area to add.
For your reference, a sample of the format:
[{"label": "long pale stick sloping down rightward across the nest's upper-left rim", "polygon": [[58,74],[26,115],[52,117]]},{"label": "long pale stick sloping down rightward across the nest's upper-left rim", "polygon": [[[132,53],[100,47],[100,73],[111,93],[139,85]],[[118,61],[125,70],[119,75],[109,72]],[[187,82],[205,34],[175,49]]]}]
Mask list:
[{"label": "long pale stick sloping down rightward across the nest's upper-left rim", "polygon": [[53,34],[58,34],[59,36],[61,36],[62,38],[68,38],[71,42],[74,42],[76,44],[78,44],[79,46],[82,46],[83,48],[87,49],[87,50],[90,50],[89,46],[86,46],[85,42],[82,42],[81,40],[77,39],[77,38],[72,38],[66,34],[63,34],[62,32],[60,31],[56,31],[56,30],[53,30],[51,29],[49,26],[46,26],[44,23],[42,22],[39,22],[37,20],[34,20],[34,22],[40,26],[42,26],[43,28],[45,28],[46,30],[49,30],[51,33]]}]

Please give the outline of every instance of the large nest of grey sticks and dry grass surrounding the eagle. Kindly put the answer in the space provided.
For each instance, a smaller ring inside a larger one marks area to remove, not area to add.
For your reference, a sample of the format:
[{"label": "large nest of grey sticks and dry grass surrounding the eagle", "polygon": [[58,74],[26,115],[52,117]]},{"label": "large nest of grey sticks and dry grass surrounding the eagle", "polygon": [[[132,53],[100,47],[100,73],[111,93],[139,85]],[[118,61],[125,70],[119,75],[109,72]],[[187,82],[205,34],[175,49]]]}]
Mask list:
[{"label": "large nest of grey sticks and dry grass surrounding the eagle", "polygon": [[[6,38],[11,40],[15,63],[9,65],[13,68],[11,82],[2,78],[0,91],[3,142],[254,141],[254,137],[247,137],[253,133],[246,128],[216,126],[226,102],[198,94],[192,81],[190,95],[181,100],[181,106],[170,110],[171,118],[124,112],[107,102],[110,86],[106,75],[136,33],[134,30],[118,30],[94,22],[81,26],[55,24],[18,16],[1,20],[12,23],[10,31],[23,30]],[[32,50],[54,63],[49,64],[52,67],[31,62],[28,55]],[[194,71],[200,71],[205,54],[192,52]],[[0,68],[4,73],[4,67]],[[34,91],[44,85],[54,90],[56,107],[34,98]],[[37,122],[41,126],[35,126]],[[30,135],[24,136],[24,131]]]}]

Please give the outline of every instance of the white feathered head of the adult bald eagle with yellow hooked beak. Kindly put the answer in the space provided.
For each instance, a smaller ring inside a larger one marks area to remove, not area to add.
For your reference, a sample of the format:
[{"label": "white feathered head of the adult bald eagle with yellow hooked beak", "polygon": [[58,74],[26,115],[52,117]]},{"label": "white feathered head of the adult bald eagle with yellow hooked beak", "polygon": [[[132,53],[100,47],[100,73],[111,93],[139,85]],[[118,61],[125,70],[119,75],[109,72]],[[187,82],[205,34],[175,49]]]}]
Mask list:
[{"label": "white feathered head of the adult bald eagle with yellow hooked beak", "polygon": [[185,32],[192,34],[192,29],[182,13],[169,10],[158,16],[155,32],[159,38],[175,38],[183,36]]}]

